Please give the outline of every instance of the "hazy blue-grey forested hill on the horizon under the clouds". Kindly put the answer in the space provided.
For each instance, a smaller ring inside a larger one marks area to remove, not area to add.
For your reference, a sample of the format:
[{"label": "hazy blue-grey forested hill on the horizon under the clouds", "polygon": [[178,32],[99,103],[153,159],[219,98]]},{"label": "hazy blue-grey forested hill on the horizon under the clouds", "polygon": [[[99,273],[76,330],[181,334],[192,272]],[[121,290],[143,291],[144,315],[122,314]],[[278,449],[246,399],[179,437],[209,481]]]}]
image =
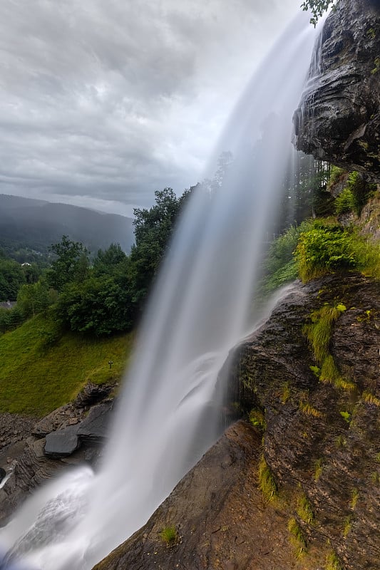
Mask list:
[{"label": "hazy blue-grey forested hill on the horizon under the clouds", "polygon": [[91,252],[119,243],[125,252],[133,244],[133,219],[96,210],[53,204],[44,200],[0,195],[0,248],[46,252],[62,235],[82,242]]}]

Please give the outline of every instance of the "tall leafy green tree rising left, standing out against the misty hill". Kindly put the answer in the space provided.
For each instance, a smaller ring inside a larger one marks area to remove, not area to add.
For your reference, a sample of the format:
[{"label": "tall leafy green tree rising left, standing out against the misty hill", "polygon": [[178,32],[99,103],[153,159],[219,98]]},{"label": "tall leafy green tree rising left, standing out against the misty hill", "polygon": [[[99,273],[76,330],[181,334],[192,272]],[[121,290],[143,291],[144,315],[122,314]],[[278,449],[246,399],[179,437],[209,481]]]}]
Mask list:
[{"label": "tall leafy green tree rising left, standing out against the misty hill", "polygon": [[86,279],[89,261],[88,250],[83,244],[72,242],[63,235],[61,242],[51,245],[50,251],[57,256],[46,271],[46,281],[53,289],[62,291],[67,283]]}]

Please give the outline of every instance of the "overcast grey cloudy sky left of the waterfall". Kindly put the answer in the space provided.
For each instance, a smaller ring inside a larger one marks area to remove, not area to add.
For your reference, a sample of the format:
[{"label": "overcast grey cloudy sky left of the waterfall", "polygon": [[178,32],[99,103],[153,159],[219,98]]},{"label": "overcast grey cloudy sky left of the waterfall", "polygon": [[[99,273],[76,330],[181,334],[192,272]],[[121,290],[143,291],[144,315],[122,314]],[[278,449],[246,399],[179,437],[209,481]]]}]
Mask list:
[{"label": "overcast grey cloudy sky left of the waterfall", "polygon": [[202,179],[300,0],[1,0],[0,193],[133,214]]}]

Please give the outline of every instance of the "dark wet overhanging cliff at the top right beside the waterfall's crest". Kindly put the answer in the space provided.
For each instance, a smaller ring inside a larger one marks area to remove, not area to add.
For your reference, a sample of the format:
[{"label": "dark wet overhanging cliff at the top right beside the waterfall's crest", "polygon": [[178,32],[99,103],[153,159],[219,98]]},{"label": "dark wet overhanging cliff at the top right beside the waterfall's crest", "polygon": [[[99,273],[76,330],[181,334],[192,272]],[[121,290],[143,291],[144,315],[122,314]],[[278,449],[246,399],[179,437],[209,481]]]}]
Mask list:
[{"label": "dark wet overhanging cliff at the top right beside the waterfall's crest", "polygon": [[380,2],[341,0],[294,114],[299,150],[380,181]]}]

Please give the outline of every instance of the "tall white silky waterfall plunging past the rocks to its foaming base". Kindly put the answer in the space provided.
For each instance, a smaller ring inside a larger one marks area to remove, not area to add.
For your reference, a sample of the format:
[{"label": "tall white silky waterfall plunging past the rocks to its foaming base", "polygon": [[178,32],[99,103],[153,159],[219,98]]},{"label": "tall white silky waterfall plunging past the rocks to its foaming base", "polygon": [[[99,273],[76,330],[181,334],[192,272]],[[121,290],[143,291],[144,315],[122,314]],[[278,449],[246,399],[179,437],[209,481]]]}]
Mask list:
[{"label": "tall white silky waterfall plunging past the rocks to its foaming base", "polygon": [[[1,534],[9,566],[90,570],[141,527],[220,435],[217,375],[252,326],[258,260],[287,163],[314,29],[299,14],[220,142],[232,167],[190,199],[140,329],[103,467],[40,489]],[[19,556],[19,558],[18,558]]]}]

